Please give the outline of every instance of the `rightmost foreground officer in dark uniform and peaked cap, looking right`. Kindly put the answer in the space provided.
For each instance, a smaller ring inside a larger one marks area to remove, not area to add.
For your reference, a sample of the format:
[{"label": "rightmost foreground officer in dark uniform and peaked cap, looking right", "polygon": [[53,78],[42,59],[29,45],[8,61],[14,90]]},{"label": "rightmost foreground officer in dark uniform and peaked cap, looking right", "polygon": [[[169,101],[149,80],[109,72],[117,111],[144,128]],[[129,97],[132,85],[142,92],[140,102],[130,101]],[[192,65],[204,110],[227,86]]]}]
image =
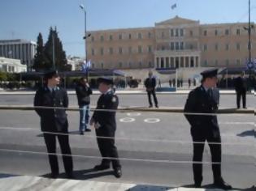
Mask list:
[{"label": "rightmost foreground officer in dark uniform and peaked cap, looking right", "polygon": [[[184,112],[216,113],[219,107],[219,91],[216,89],[218,70],[206,70],[202,85],[190,91]],[[193,138],[193,178],[195,187],[202,184],[202,155],[205,142],[210,146],[214,185],[219,189],[232,189],[221,176],[221,138],[216,115],[185,114],[191,125]],[[210,144],[214,142],[215,144]]]}]

